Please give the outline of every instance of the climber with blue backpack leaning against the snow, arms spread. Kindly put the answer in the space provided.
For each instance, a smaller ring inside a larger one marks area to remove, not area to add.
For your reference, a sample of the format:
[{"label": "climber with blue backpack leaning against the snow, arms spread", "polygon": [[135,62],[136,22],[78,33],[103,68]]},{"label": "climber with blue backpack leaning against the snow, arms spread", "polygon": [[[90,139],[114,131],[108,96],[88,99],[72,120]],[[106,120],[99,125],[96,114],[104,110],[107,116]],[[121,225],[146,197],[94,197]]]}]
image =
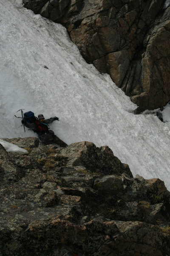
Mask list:
[{"label": "climber with blue backpack leaning against the snow, arms spread", "polygon": [[43,144],[48,145],[51,143],[56,143],[60,147],[66,147],[67,144],[60,140],[59,137],[54,134],[54,131],[49,130],[48,128],[48,124],[51,124],[55,120],[59,121],[59,118],[54,116],[49,119],[45,119],[42,114],[39,114],[37,118],[34,116],[33,112],[29,111],[24,113],[22,124],[36,132]]}]

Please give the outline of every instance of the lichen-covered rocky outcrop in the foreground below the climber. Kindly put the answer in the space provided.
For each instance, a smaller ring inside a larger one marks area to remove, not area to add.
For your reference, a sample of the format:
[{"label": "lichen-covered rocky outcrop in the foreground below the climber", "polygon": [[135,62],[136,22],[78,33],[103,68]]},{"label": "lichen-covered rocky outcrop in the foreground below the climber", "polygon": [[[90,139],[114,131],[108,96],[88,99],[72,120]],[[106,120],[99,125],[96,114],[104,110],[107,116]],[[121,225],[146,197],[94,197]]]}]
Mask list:
[{"label": "lichen-covered rocky outcrop in the foreground below the climber", "polygon": [[163,181],[133,177],[107,146],[3,140],[29,154],[0,145],[0,255],[170,255]]}]

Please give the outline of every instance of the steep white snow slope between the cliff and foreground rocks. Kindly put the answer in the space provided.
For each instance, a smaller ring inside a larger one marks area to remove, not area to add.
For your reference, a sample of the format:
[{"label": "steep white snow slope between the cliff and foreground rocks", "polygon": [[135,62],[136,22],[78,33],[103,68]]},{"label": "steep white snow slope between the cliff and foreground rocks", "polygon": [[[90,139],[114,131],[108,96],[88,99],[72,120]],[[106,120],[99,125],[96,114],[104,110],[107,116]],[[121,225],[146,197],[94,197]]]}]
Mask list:
[{"label": "steep white snow slope between the cliff and foreground rocks", "polygon": [[64,27],[24,9],[21,0],[1,0],[0,9],[0,137],[35,136],[14,117],[20,108],[58,116],[50,127],[66,143],[108,145],[133,175],[159,177],[170,189],[168,126],[134,115],[136,105],[86,64]]}]

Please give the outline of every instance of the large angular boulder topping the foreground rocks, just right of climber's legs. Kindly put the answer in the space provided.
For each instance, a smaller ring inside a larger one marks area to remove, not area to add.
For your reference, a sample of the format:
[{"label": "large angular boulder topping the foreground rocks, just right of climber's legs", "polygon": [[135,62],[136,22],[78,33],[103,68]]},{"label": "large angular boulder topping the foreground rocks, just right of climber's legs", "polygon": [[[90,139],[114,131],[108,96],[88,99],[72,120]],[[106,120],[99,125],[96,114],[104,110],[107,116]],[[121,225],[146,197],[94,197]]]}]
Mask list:
[{"label": "large angular boulder topping the foreground rocks, just right of climber's legs", "polygon": [[108,146],[97,148],[94,143],[83,141],[62,148],[60,154],[70,158],[67,166],[83,165],[93,173],[102,171],[105,174],[120,175],[125,172],[133,176],[129,166],[121,163]]}]

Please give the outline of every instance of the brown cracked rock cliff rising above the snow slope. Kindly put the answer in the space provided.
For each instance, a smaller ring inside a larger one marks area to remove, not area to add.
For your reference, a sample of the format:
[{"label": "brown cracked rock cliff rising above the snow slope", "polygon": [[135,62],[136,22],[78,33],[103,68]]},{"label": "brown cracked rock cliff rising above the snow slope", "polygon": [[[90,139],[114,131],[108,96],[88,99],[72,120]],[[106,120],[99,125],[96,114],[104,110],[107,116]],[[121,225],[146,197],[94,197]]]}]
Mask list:
[{"label": "brown cracked rock cliff rising above the snow slope", "polygon": [[170,100],[170,7],[165,0],[23,0],[24,6],[62,23],[88,63],[109,73],[139,106]]}]

